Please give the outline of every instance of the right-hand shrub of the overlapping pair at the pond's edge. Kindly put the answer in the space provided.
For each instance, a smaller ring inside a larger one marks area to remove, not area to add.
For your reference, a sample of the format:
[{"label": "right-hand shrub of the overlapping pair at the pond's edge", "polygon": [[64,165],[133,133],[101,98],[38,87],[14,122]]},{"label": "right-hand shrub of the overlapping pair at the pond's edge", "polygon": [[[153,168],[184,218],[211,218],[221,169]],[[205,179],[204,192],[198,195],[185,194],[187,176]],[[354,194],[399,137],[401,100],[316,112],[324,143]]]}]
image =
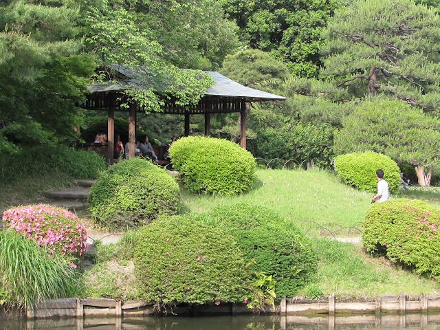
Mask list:
[{"label": "right-hand shrub of the overlapping pair at the pond's edge", "polygon": [[215,208],[198,219],[227,230],[239,242],[254,272],[272,275],[278,298],[292,297],[315,274],[318,258],[292,223],[261,206],[239,203]]}]

